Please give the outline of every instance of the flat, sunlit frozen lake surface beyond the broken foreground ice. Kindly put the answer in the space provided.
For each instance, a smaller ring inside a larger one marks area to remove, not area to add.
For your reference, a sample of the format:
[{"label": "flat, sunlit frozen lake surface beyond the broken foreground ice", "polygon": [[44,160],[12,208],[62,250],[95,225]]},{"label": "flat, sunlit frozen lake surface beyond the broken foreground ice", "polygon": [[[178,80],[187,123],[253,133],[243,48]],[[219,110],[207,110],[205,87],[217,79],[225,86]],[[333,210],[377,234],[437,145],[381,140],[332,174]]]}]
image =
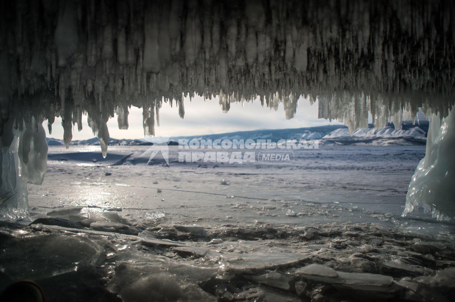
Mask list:
[{"label": "flat, sunlit frozen lake surface beyond the broken foreground ice", "polygon": [[[295,150],[292,164],[192,163],[178,162],[182,150],[169,146],[167,166],[161,154],[147,165],[148,155],[140,157],[147,149],[110,146],[103,159],[99,146],[50,146],[43,185],[29,185],[32,215],[83,206],[83,212],[121,208],[126,217],[177,223],[395,218],[398,224],[409,181],[425,155],[425,146],[319,146]],[[388,213],[393,216],[378,216]]]}]

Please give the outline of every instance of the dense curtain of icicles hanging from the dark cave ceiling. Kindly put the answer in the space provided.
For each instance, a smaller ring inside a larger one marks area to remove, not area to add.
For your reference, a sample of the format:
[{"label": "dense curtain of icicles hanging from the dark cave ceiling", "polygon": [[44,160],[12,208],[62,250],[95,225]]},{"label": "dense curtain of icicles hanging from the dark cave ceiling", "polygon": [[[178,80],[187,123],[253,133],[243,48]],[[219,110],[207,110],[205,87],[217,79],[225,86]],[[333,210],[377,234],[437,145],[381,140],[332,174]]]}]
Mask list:
[{"label": "dense curtain of icicles hanging from the dark cave ceiling", "polygon": [[445,117],[455,79],[454,10],[444,0],[3,3],[4,161],[20,136],[21,179],[40,183],[42,120],[51,131],[62,117],[68,145],[87,115],[106,156],[114,112],[126,129],[128,107],[142,107],[144,134],[153,136],[162,103],[175,103],[183,117],[188,94],[219,96],[224,112],[231,102],[259,99],[275,110],[283,102],[286,118],[299,96],[318,99],[319,118],[344,121],[351,134],[368,127],[368,112],[376,128],[390,120],[399,128],[419,107]]}]

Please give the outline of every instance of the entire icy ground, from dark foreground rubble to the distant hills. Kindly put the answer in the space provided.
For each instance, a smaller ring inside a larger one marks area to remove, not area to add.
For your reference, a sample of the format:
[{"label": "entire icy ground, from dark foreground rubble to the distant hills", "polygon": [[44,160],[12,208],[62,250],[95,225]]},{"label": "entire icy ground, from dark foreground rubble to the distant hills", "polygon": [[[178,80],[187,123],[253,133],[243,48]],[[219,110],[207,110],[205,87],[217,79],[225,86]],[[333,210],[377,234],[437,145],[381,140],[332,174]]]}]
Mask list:
[{"label": "entire icy ground, from dark foreground rubble to the distant hills", "polygon": [[34,222],[0,222],[0,291],[21,279],[46,301],[448,301],[453,291],[454,224],[400,217],[424,146],[320,146],[294,151],[292,164],[233,165],[179,162],[170,146],[169,166],[147,165],[148,148],[113,146],[103,159],[98,146],[51,146],[43,185],[28,189]]}]

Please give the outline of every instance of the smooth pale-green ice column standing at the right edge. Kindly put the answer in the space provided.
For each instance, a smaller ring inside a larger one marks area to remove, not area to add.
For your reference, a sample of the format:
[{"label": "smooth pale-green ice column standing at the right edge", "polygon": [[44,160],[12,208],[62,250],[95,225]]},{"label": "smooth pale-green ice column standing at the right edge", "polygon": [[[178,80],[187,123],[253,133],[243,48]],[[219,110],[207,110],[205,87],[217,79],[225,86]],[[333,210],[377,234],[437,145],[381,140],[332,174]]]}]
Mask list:
[{"label": "smooth pale-green ice column standing at the right edge", "polygon": [[455,110],[442,119],[433,114],[425,157],[415,169],[403,216],[423,206],[437,219],[455,217]]}]

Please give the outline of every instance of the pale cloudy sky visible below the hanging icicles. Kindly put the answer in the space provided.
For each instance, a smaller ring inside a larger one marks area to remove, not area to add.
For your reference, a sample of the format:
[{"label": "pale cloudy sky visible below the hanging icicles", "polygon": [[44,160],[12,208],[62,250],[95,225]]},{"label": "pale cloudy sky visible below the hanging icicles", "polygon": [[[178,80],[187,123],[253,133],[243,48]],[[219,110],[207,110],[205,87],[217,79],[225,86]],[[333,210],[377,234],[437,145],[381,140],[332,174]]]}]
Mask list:
[{"label": "pale cloudy sky visible below the hanging icicles", "polygon": [[[270,108],[261,107],[261,103],[256,100],[253,102],[231,103],[229,112],[223,113],[218,104],[218,97],[211,101],[204,102],[203,97],[194,97],[191,102],[189,97],[184,99],[185,118],[181,119],[178,115],[178,107],[171,107],[169,103],[164,103],[160,109],[160,127],[155,125],[155,135],[157,136],[193,136],[202,134],[214,134],[224,132],[236,132],[260,129],[286,129],[313,127],[329,124],[328,120],[318,119],[318,103],[310,106],[305,99],[299,99],[297,113],[293,119],[286,120],[283,104],[280,103],[278,111]],[[94,137],[88,126],[87,117],[82,117],[82,130],[77,131],[73,127],[73,140],[86,140]],[[142,109],[131,107],[128,115],[128,130],[118,129],[117,117],[113,117],[107,122],[109,135],[116,139],[136,139],[144,137],[142,128]],[[155,120],[156,123],[156,120]],[[332,121],[332,123],[339,122]],[[52,134],[47,130],[47,122],[43,123],[46,129],[46,136],[63,139],[63,128],[61,118],[56,117],[52,124]]]}]

